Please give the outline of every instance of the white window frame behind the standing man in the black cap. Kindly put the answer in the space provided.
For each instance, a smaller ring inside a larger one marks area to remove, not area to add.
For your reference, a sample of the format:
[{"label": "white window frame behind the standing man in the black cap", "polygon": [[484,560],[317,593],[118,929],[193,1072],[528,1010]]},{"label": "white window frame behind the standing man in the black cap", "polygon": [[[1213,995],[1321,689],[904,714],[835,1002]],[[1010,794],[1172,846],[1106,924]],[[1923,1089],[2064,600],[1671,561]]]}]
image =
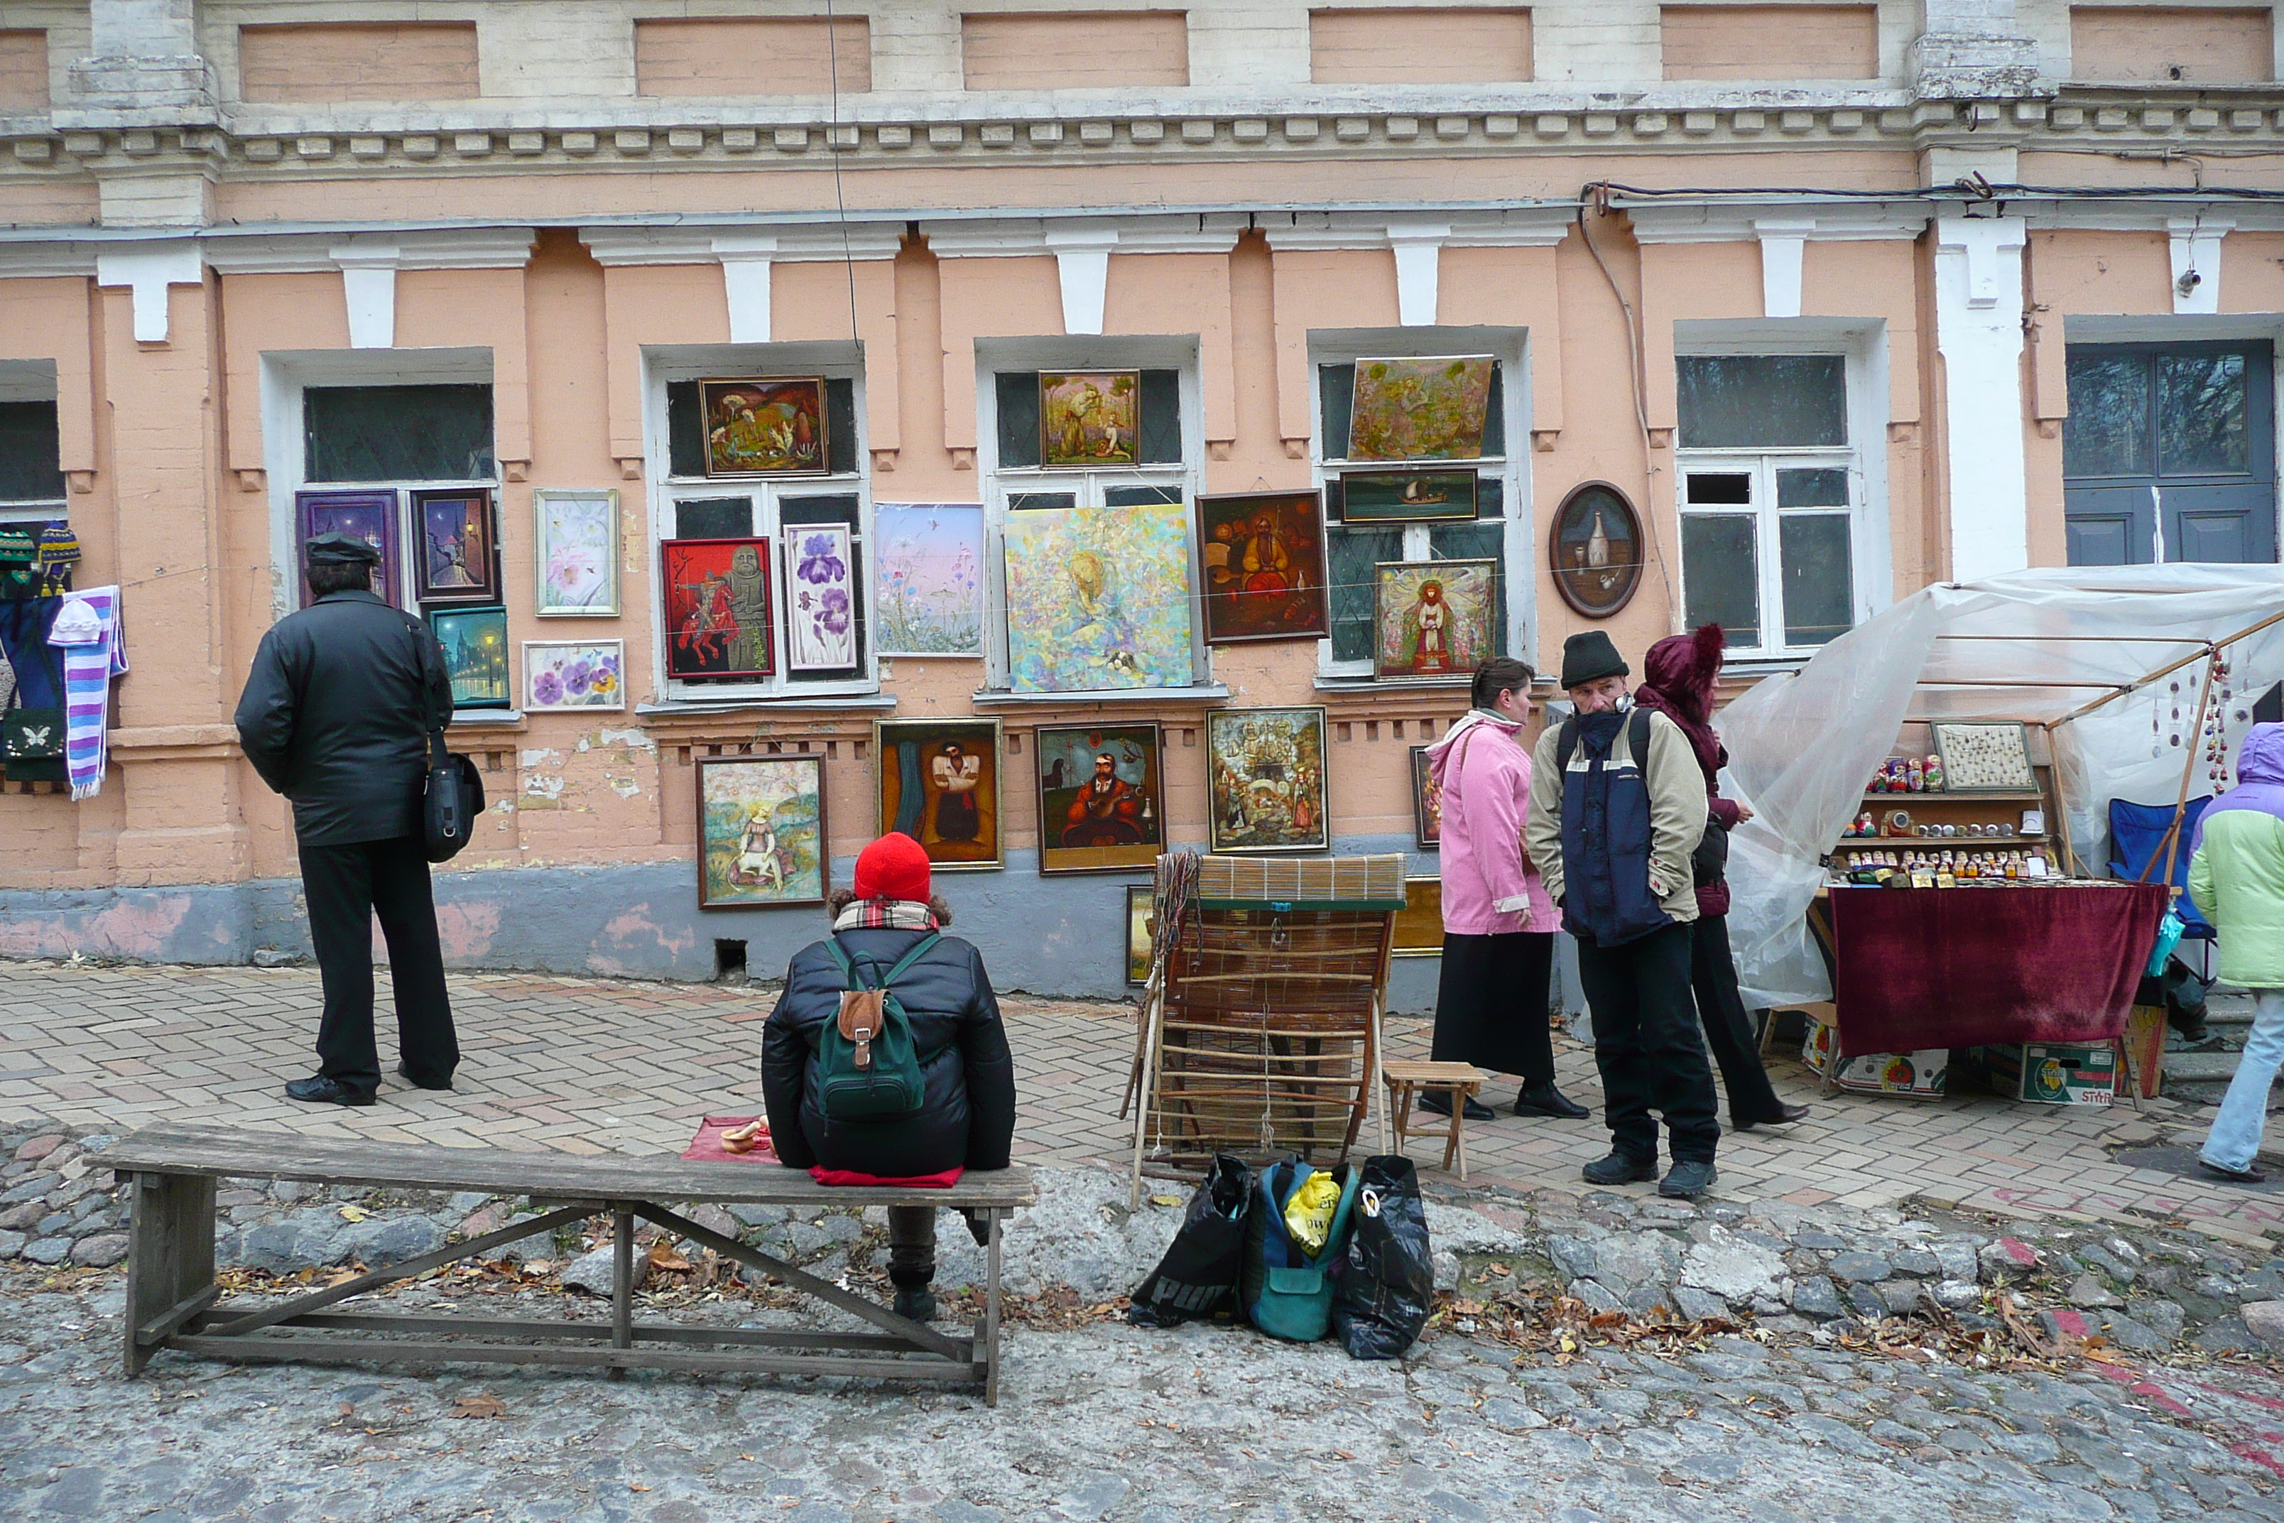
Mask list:
[{"label": "white window frame behind the standing man in the black cap", "polygon": [[[311,482],[301,395],[311,386],[491,386],[491,470],[484,477],[439,482]],[[263,470],[270,480],[270,541],[274,617],[283,619],[308,601],[301,582],[301,525],[295,498],[304,491],[391,491],[397,498],[395,585],[404,591],[404,612],[423,619],[413,596],[413,523],[416,491],[489,491],[493,518],[505,516],[500,500],[500,393],[491,377],[491,349],[286,349],[263,354]],[[505,539],[505,534],[502,534]],[[502,548],[505,555],[505,548]],[[502,564],[505,575],[505,564]],[[505,603],[505,585],[502,585]],[[482,607],[482,605],[480,605]],[[509,610],[509,617],[514,610]],[[509,664],[514,671],[514,664]],[[512,701],[509,708],[516,708]],[[498,710],[482,710],[486,717]]]}]

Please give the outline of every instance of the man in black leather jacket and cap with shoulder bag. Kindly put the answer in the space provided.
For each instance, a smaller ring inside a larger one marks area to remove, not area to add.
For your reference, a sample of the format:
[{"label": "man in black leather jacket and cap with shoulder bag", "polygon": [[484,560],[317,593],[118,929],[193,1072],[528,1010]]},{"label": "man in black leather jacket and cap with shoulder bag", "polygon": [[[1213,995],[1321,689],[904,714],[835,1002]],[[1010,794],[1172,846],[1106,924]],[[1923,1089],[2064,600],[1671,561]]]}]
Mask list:
[{"label": "man in black leather jacket and cap with shoulder bag", "polygon": [[238,699],[238,740],[292,799],[308,936],[324,975],[317,1073],[297,1101],[372,1105],[372,918],[388,938],[397,1073],[450,1089],[459,1066],[436,945],[420,788],[427,731],[452,715],[452,680],[427,626],[372,594],[379,553],[354,534],[308,541],[313,603],[279,619]]}]

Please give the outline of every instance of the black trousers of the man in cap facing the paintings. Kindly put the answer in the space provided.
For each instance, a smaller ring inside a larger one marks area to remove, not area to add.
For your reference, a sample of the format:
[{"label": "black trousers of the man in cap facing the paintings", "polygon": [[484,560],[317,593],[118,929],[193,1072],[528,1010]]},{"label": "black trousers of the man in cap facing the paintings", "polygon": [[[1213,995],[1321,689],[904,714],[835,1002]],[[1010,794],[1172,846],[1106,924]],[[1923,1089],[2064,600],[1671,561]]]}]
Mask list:
[{"label": "black trousers of the man in cap facing the paintings", "polygon": [[372,918],[388,938],[388,982],[397,1002],[397,1053],[425,1082],[448,1082],[459,1066],[452,1002],[443,991],[436,900],[418,836],[338,847],[299,843],[308,938],[324,975],[317,1073],[349,1089],[381,1087],[372,1046]]}]

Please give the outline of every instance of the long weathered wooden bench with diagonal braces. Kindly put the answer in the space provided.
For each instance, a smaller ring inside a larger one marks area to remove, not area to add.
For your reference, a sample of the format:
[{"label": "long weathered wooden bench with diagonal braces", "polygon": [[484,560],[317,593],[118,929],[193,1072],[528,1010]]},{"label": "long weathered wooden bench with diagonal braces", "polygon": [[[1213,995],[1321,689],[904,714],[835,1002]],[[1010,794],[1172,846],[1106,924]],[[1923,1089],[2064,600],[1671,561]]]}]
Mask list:
[{"label": "long weathered wooden bench with diagonal braces", "polygon": [[[950,1190],[825,1187],[806,1171],[774,1162],[683,1162],[681,1158],[578,1158],[493,1149],[402,1146],[333,1137],[297,1137],[224,1126],[146,1126],[103,1151],[121,1180],[132,1180],[135,1222],[128,1247],[126,1372],[158,1349],[210,1359],[317,1363],[539,1363],[626,1370],[722,1370],[841,1375],[982,1386],[998,1404],[1000,1375],[1000,1233],[1037,1194],[1030,1169],[968,1174]],[[546,1215],[384,1265],[370,1274],[292,1297],[265,1311],[215,1311],[215,1180],[286,1178],[379,1190],[473,1190],[518,1194]],[[877,1302],[699,1226],[660,1201],[751,1206],[950,1206],[982,1217],[984,1315],[968,1336],[941,1333]],[[327,1311],[338,1302],[475,1258],[532,1233],[612,1217],[617,1247],[610,1322],[416,1317]],[[653,1222],[724,1258],[774,1274],[795,1290],[854,1313],[875,1333],[758,1331],[635,1322],[635,1219]],[[340,1336],[365,1333],[365,1336]],[[608,1340],[608,1347],[596,1347]],[[665,1345],[665,1347],[642,1347]],[[703,1347],[722,1345],[722,1347]]]}]

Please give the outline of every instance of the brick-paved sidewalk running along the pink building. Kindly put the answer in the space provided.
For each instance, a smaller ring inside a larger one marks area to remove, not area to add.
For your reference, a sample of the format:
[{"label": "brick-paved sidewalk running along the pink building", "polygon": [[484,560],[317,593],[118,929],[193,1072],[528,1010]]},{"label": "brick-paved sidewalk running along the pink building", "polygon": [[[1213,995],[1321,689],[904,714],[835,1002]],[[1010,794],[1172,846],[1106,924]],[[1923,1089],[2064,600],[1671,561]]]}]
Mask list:
[{"label": "brick-paved sidewalk running along the pink building", "polygon": [[[459,1089],[409,1089],[391,1073],[381,1105],[340,1110],[297,1105],[281,1091],[315,1066],[313,968],[0,964],[0,1119],[217,1121],[571,1153],[681,1151],[699,1117],[758,1112],[761,1021],[774,1000],[767,989],[715,984],[452,975]],[[386,1028],[386,975],[381,1007]],[[1133,1012],[1032,998],[1003,1009],[1021,1091],[1016,1155],[1124,1167],[1131,1133],[1117,1107]],[[1391,1021],[1389,1048],[1425,1057],[1425,1023]],[[381,1053],[393,1071],[386,1030]],[[1555,1069],[1562,1089],[1599,1112],[1592,1055],[1558,1037]],[[1777,1057],[1770,1071],[1784,1098],[1816,1114],[1788,1133],[1722,1137],[1724,1196],[1889,1206],[1925,1194],[2008,1215],[2184,1219],[2234,1238],[2284,1235],[2284,1185],[2227,1187],[2113,1155],[2195,1146],[2206,1110],[2165,1101],[2145,1112],[2062,1110],[1989,1096],[1827,1101],[1800,1064]],[[1512,1087],[1494,1085],[1487,1098],[1512,1098]],[[1469,1178],[1583,1190],[1578,1167],[1603,1151],[1599,1121],[1503,1117],[1469,1126]],[[1441,1144],[1416,1137],[1414,1155],[1432,1162]]]}]

